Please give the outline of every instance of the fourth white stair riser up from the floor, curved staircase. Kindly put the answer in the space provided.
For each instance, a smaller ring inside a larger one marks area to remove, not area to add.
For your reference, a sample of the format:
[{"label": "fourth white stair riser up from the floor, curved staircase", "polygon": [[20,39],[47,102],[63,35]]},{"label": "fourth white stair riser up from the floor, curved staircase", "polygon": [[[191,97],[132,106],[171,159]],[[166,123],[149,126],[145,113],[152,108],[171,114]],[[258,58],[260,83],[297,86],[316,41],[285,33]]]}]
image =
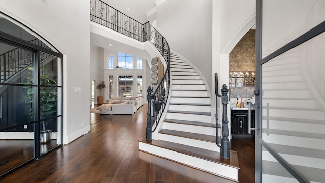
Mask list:
[{"label": "fourth white stair riser up from the floor, curved staircase", "polygon": [[211,116],[167,112],[167,119],[188,120],[211,123]]}]

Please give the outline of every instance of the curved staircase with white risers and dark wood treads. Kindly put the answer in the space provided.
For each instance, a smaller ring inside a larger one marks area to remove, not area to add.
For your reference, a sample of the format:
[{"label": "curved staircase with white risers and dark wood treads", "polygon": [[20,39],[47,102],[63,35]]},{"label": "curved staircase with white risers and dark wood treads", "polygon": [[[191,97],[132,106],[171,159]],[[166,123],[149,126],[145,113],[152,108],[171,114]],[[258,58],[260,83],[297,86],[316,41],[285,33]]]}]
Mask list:
[{"label": "curved staircase with white risers and dark wood treads", "polygon": [[172,91],[161,129],[155,132],[158,139],[139,140],[139,150],[238,181],[237,152],[231,151],[229,160],[222,159],[215,143],[216,125],[205,81],[188,62],[172,53],[170,67]]}]

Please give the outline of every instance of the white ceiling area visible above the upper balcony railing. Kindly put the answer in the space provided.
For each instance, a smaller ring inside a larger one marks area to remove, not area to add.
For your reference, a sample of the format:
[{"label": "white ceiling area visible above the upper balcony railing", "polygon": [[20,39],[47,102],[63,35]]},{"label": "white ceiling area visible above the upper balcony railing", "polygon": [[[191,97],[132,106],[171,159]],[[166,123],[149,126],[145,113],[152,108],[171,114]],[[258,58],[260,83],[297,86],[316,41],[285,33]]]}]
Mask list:
[{"label": "white ceiling area visible above the upper balcony railing", "polygon": [[[157,0],[102,0],[109,6],[123,14],[144,24],[147,20],[147,12],[156,7]],[[127,10],[129,9],[129,10]]]}]

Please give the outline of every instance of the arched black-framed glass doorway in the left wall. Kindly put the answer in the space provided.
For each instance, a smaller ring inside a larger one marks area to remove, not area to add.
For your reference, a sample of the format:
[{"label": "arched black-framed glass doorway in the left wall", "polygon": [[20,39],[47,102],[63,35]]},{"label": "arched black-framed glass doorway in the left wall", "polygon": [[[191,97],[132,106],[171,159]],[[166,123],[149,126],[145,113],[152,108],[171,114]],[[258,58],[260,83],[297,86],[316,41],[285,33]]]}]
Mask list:
[{"label": "arched black-framed glass doorway in the left wall", "polygon": [[63,144],[63,55],[28,27],[1,17],[0,151],[7,153],[0,177]]}]

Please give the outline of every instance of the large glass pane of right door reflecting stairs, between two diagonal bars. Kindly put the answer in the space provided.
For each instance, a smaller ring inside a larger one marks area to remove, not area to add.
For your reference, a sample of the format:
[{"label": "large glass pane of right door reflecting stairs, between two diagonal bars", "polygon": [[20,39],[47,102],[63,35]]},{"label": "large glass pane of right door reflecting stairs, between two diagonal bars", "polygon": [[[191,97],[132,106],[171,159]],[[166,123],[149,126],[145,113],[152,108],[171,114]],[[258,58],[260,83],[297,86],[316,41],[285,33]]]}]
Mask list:
[{"label": "large glass pane of right door reflecting stairs, between two diagonal bars", "polygon": [[324,43],[322,33],[262,65],[262,140],[314,182],[325,173]]}]

